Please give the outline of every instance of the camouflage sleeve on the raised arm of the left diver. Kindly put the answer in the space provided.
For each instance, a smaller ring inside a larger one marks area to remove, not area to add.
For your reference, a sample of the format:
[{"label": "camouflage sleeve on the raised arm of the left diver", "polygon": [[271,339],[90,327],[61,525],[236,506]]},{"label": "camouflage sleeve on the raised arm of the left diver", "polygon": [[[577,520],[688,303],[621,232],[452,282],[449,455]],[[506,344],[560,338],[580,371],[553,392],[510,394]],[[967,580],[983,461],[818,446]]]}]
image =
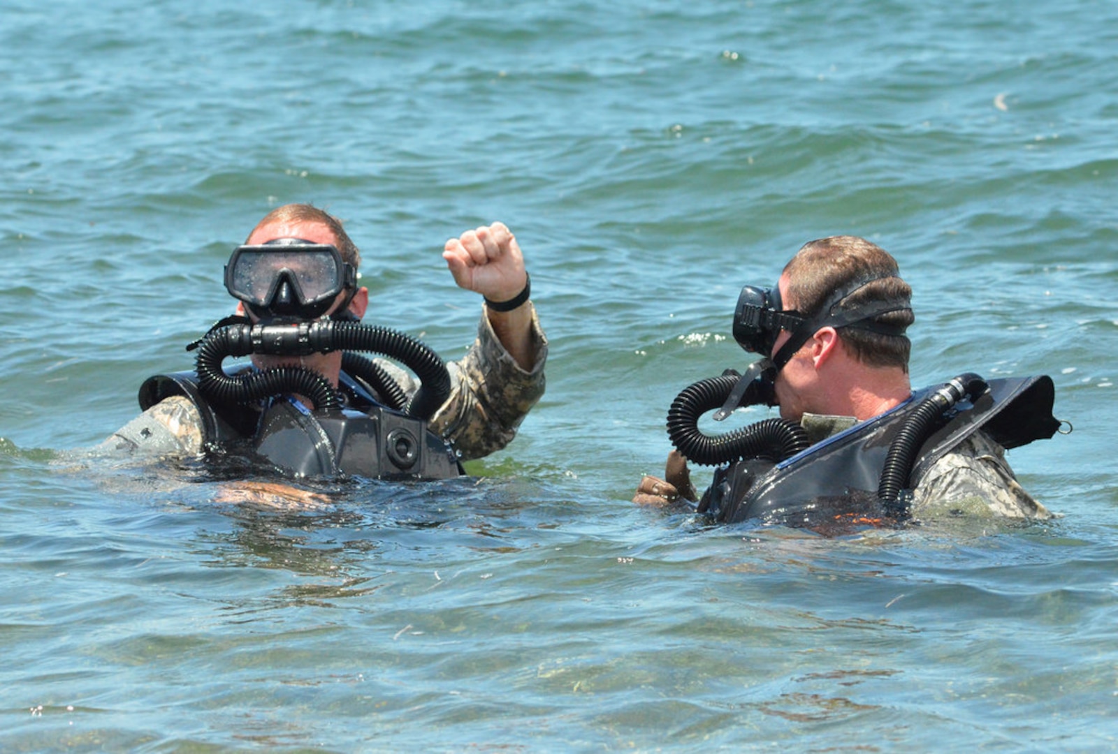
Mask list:
[{"label": "camouflage sleeve on the raised arm of the left diver", "polygon": [[447,364],[451,397],[432,417],[430,428],[449,440],[463,460],[487,456],[509,445],[543,394],[548,340],[534,308],[532,343],[536,363],[528,372],[505,351],[482,314],[477,338],[465,357]]}]

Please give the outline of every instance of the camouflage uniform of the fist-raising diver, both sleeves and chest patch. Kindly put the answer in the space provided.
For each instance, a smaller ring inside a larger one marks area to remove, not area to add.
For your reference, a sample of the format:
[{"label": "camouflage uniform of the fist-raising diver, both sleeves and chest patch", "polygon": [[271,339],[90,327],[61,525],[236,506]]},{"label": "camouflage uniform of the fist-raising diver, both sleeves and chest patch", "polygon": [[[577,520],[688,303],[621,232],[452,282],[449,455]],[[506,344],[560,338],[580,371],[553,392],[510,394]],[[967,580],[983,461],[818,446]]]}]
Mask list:
[{"label": "camouflage uniform of the fist-raising diver, both sleeves and chest patch", "polygon": [[[531,304],[529,304],[531,306]],[[465,357],[447,364],[451,395],[430,420],[432,431],[449,440],[463,460],[500,450],[517,436],[517,428],[540,400],[544,389],[543,364],[548,341],[532,309],[534,366],[525,372],[498,340],[489,317],[482,315],[477,337]],[[378,360],[408,394],[418,389],[410,374]],[[202,452],[201,416],[186,398],[160,401],[105,440],[98,450],[155,456],[197,456]]]}]

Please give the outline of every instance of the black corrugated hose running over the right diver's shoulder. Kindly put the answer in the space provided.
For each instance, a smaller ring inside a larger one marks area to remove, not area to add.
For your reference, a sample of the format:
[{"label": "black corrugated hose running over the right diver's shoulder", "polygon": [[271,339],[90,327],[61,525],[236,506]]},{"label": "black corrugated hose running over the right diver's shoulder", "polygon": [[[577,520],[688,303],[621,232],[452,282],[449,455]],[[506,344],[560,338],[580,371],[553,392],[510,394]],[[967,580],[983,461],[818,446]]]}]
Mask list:
[{"label": "black corrugated hose running over the right diver's shoulder", "polygon": [[904,420],[889,446],[885,465],[881,469],[881,480],[878,484],[878,499],[887,506],[899,505],[901,490],[908,487],[909,475],[912,474],[916,454],[928,436],[936,430],[937,420],[964,398],[974,402],[986,388],[985,380],[967,372],[945,383],[912,409],[912,414]]}]

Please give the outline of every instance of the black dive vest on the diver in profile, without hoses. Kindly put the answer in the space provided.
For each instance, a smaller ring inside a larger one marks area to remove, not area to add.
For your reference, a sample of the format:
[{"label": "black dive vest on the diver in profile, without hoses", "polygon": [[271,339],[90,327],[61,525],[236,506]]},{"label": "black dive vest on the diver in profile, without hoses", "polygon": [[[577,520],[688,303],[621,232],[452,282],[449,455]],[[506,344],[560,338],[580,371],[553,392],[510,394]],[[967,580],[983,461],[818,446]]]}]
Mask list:
[{"label": "black dive vest on the diver in profile, without hoses", "polygon": [[[910,486],[931,466],[979,429],[1004,448],[1048,439],[1060,428],[1052,416],[1051,378],[991,380],[973,404],[960,401],[923,441],[909,475]],[[839,516],[893,516],[878,499],[878,486],[893,439],[926,388],[897,408],[828,437],[779,464],[756,458],[714,471],[699,505],[716,521],[815,526]]]}]

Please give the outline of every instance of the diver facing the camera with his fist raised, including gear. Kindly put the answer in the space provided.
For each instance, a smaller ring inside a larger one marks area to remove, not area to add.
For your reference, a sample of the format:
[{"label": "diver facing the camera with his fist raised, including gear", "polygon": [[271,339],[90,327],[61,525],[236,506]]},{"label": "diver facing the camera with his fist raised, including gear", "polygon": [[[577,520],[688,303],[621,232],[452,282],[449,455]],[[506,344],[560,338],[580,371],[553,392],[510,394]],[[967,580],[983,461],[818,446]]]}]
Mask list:
[{"label": "diver facing the camera with his fist raised, including gear", "polygon": [[[459,461],[503,447],[542,394],[547,341],[504,226],[452,239],[444,257],[459,286],[486,295],[479,338],[449,369],[416,338],[360,323],[368,290],[357,285],[360,257],[340,222],[304,204],[274,211],[226,266],[237,313],[188,346],[193,371],[144,381],[143,413],[104,445],[248,452],[295,476],[463,474]],[[492,300],[483,273],[502,278],[501,290],[522,290]],[[252,364],[227,370],[230,356]]]}]

